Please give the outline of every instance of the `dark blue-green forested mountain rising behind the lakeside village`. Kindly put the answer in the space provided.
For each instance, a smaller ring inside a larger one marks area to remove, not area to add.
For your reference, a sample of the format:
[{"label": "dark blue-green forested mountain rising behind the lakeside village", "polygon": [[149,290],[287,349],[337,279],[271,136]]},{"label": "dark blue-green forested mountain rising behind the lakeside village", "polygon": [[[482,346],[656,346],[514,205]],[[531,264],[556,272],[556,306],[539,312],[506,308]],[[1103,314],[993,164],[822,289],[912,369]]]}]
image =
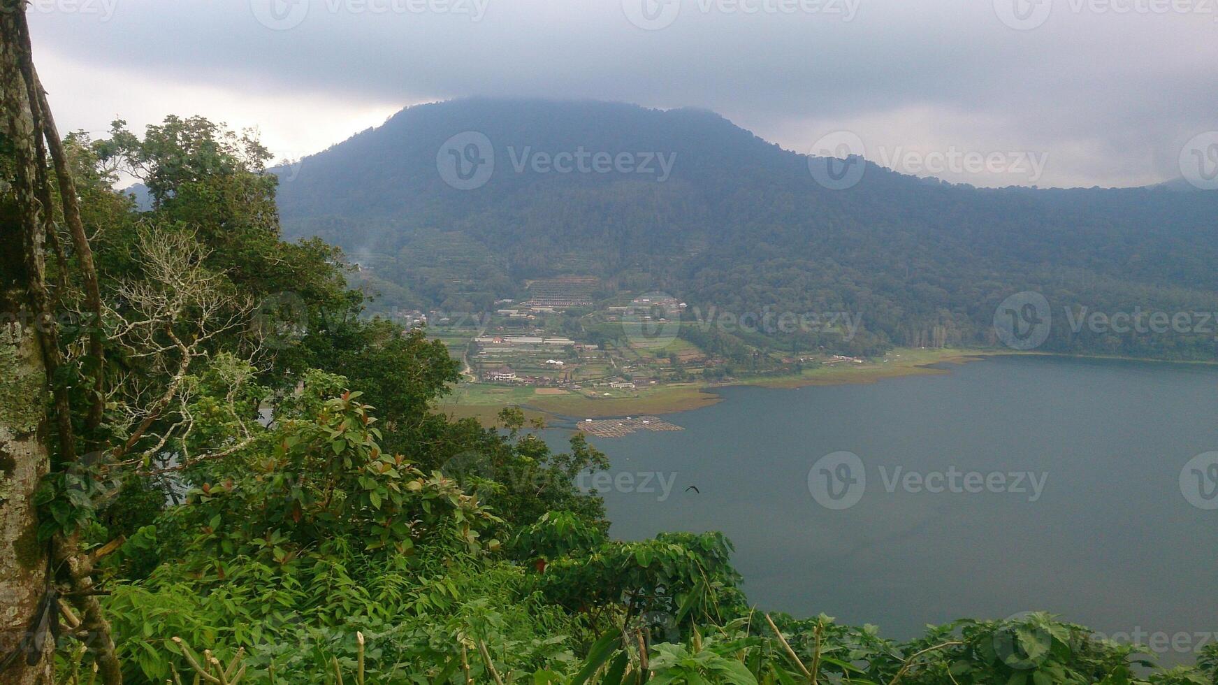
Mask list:
[{"label": "dark blue-green forested mountain rising behind the lakeside village", "polygon": [[[438,171],[452,163],[446,141],[465,132],[485,134],[495,158],[470,190]],[[650,173],[535,165],[538,152],[580,151],[650,158]],[[1033,290],[1060,317],[1045,350],[1209,358],[1218,349],[1212,330],[1065,324],[1067,307],[1218,311],[1218,193],[1175,184],[982,189],[867,162],[860,183],[832,190],[808,156],[708,111],[536,100],[409,107],[279,172],[286,232],[374,264],[400,305],[482,311],[524,279],[592,274],[610,291],[663,290],[703,311],[856,312],[864,333],[848,346],[873,353],[993,345],[995,307]]]}]

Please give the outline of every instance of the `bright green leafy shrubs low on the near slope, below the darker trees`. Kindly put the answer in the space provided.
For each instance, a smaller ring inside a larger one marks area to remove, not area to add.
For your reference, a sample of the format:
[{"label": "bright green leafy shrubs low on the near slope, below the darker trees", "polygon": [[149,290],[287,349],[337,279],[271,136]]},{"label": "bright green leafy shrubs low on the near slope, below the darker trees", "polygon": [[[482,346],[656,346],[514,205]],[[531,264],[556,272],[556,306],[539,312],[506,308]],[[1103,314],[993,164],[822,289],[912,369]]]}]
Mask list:
[{"label": "bright green leafy shrubs low on the near slope, below the darker trees", "polygon": [[306,386],[297,406],[267,429],[266,455],[206,474],[110,561],[123,575],[150,550],[169,559],[106,605],[129,681],[189,679],[208,659],[242,683],[1214,681],[1207,659],[1152,670],[1043,613],[900,644],[825,616],[771,618],[747,607],[717,534],[614,541],[559,511],[512,530],[493,484],[479,480],[484,502],[382,452],[357,392]]}]

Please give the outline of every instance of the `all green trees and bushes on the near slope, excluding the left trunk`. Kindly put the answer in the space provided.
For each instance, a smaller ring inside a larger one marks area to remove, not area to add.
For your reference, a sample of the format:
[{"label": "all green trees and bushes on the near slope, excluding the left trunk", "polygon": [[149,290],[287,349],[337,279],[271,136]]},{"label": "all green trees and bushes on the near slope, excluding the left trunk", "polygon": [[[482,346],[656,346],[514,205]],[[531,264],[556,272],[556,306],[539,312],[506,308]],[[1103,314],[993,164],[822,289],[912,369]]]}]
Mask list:
[{"label": "all green trees and bushes on the near slope, excluding the left trunk", "polygon": [[[1155,670],[1046,614],[894,642],[756,613],[721,535],[608,535],[581,436],[554,453],[519,411],[430,412],[457,362],[358,316],[335,250],[279,239],[256,143],[171,118],[72,150],[106,402],[76,417],[96,460],[52,464],[40,533],[96,551],[128,683],[1214,683],[1218,652]],[[108,190],[118,162],[151,211]],[[65,328],[65,375],[90,379]],[[65,635],[62,680],[94,657]]]}]

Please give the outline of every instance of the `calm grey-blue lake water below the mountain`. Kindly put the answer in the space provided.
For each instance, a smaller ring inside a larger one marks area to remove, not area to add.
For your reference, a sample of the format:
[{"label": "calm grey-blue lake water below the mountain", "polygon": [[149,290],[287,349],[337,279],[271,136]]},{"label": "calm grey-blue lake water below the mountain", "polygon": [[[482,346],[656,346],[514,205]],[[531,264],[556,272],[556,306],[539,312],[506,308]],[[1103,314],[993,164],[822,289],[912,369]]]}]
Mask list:
[{"label": "calm grey-blue lake water below the mountain", "polygon": [[[1180,481],[1190,460],[1218,450],[1218,371],[1047,357],[951,369],[732,388],[665,417],[683,431],[593,439],[614,473],[639,474],[604,492],[611,533],[721,530],[760,608],[875,623],[896,639],[1038,609],[1118,639],[1218,630],[1218,509],[1191,505]],[[811,494],[829,478],[821,469],[854,474],[839,460],[812,467],[839,451],[857,455],[865,483],[854,506],[833,509]],[[652,472],[672,484],[666,497],[658,478],[644,485]],[[1044,479],[1039,497],[1017,473]]]}]

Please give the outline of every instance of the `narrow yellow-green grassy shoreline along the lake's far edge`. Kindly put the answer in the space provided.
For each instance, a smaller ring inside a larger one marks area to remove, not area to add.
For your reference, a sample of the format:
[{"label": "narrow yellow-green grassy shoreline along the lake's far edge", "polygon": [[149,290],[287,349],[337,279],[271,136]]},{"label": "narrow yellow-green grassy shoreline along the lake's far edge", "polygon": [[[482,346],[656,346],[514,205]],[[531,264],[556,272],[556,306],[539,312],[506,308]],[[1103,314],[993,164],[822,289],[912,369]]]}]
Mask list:
[{"label": "narrow yellow-green grassy shoreline along the lake's far edge", "polygon": [[[939,364],[962,366],[991,357],[1039,356],[1071,360],[1112,362],[1169,363],[1216,367],[1214,361],[1147,360],[1139,357],[1069,355],[1061,352],[1021,352],[1016,350],[985,349],[911,349],[895,347],[884,361],[865,362],[859,366],[825,367],[806,369],[800,374],[772,377],[747,377],[727,383],[674,383],[655,389],[646,389],[635,396],[588,397],[575,392],[538,394],[533,388],[507,388],[486,384],[465,384],[436,403],[435,410],[453,418],[476,418],[491,425],[496,414],[507,407],[520,407],[529,419],[541,418],[549,423],[581,421],[583,418],[618,418],[638,414],[672,414],[700,410],[723,401],[717,390],[723,388],[771,388],[793,390],[810,386],[864,385],[895,378],[918,375],[945,375],[951,368]],[[464,400],[464,401],[463,401]],[[473,401],[471,401],[473,400]]]}]

